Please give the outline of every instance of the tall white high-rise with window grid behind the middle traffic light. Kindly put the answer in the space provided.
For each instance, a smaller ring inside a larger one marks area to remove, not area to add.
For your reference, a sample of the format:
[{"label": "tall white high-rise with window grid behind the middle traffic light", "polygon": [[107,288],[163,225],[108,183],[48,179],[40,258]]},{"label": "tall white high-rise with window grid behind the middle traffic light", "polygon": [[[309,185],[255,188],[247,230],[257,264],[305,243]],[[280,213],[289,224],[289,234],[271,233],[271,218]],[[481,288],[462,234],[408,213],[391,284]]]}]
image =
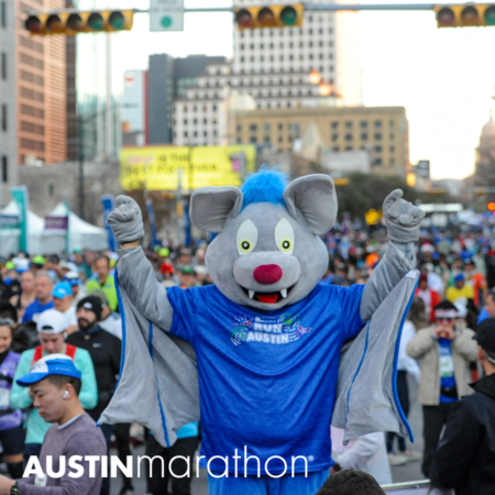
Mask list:
[{"label": "tall white high-rise with window grid behind the middle traffic light", "polygon": [[[258,0],[234,0],[239,8],[258,4]],[[355,12],[306,11],[301,28],[234,29],[232,73],[250,76],[240,78],[239,85],[256,98],[260,109],[317,107],[318,87],[309,87],[311,69],[318,70],[333,92],[341,95],[343,105],[362,105],[355,15]]]}]

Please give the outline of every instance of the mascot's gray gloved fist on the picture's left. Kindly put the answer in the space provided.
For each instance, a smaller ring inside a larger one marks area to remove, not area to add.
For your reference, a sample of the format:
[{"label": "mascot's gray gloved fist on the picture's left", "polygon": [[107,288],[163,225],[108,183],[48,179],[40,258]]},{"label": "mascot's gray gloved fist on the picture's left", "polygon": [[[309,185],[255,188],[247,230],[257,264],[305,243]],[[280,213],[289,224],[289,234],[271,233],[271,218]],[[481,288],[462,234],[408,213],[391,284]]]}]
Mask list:
[{"label": "mascot's gray gloved fist on the picture's left", "polygon": [[129,196],[118,196],[117,208],[108,216],[107,221],[121,245],[144,238],[141,208]]}]

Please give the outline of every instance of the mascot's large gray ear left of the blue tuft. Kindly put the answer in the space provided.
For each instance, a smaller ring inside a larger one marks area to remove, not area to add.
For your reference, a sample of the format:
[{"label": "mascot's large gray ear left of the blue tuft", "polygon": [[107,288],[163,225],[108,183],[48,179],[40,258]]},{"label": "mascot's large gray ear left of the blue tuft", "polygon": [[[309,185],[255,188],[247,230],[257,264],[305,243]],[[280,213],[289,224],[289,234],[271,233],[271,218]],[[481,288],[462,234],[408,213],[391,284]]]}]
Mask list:
[{"label": "mascot's large gray ear left of the blue tuft", "polygon": [[190,198],[190,220],[207,232],[221,232],[227,217],[237,217],[242,208],[241,189],[227,187],[201,187]]}]

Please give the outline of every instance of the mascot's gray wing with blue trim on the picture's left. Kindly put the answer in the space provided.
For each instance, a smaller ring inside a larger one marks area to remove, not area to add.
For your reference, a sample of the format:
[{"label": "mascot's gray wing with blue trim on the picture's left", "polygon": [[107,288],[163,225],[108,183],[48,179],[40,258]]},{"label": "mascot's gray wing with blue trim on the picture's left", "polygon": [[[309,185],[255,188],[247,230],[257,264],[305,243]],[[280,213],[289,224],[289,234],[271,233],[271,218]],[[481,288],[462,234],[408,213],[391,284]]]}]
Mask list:
[{"label": "mascot's gray wing with blue trim on the picture's left", "polygon": [[[128,251],[119,268],[123,277],[143,279],[120,284],[117,276],[122,315],[120,376],[112,400],[98,424],[139,422],[150,428],[163,447],[170,447],[184,425],[199,421],[196,354],[188,342],[152,322],[172,322],[172,316],[165,288],[156,283],[142,249]],[[134,294],[136,287],[142,288],[140,297]],[[140,308],[134,300],[141,301]],[[150,305],[146,316],[153,316],[150,320],[143,316],[146,300]]]}]

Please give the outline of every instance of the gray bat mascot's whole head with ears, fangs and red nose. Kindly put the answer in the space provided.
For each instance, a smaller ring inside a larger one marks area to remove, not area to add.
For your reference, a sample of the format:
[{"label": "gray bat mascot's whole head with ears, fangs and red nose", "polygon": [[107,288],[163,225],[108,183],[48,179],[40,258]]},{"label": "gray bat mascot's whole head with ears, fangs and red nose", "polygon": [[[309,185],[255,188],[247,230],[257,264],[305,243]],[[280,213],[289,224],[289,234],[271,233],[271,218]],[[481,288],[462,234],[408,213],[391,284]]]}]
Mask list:
[{"label": "gray bat mascot's whole head with ears, fangs and red nose", "polygon": [[242,189],[205,187],[194,193],[193,223],[218,233],[207,252],[215,284],[230,300],[273,310],[304,299],[328,267],[319,238],[337,218],[328,175],[287,185],[287,176],[262,168]]}]

